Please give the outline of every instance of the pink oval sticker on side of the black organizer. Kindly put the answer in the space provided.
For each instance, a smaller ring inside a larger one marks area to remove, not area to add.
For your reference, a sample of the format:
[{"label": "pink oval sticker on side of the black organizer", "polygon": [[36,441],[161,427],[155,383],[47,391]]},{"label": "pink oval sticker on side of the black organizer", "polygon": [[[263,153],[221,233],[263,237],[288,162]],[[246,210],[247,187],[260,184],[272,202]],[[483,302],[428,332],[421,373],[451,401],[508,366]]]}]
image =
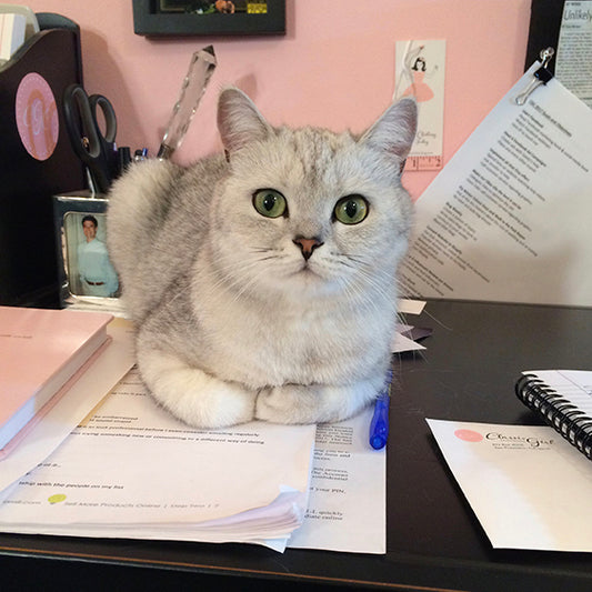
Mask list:
[{"label": "pink oval sticker on side of the black organizer", "polygon": [[22,146],[37,160],[47,160],[58,143],[60,123],[56,98],[46,79],[27,74],[17,90],[14,106]]}]

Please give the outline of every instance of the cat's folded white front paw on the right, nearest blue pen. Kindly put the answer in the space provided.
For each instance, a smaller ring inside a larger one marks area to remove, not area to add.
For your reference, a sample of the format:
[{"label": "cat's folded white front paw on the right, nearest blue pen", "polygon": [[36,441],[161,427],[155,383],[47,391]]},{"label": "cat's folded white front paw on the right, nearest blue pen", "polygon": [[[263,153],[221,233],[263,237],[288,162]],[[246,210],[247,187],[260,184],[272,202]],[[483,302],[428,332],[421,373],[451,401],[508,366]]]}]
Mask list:
[{"label": "cat's folded white front paw on the right, nearest blue pen", "polygon": [[370,382],[270,387],[259,391],[255,418],[274,423],[335,422],[355,415],[375,394]]}]

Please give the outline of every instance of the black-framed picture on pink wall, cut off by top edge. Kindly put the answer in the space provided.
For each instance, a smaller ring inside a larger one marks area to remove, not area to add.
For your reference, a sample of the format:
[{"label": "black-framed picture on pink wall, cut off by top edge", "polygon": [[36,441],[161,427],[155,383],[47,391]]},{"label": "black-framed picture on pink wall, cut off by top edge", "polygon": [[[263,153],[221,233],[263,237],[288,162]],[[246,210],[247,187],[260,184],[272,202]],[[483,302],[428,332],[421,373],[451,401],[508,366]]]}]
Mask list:
[{"label": "black-framed picture on pink wall, cut off by top edge", "polygon": [[142,36],[284,34],[285,0],[133,0]]}]

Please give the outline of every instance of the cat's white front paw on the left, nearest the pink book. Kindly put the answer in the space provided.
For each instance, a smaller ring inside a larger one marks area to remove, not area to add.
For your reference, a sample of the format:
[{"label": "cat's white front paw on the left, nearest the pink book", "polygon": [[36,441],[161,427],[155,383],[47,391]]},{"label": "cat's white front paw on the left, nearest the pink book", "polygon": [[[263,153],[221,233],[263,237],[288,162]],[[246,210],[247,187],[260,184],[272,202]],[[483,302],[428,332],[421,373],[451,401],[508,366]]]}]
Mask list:
[{"label": "cat's white front paw on the left, nearest the pink book", "polygon": [[254,417],[257,393],[224,382],[159,350],[139,350],[140,373],[152,395],[180,420],[198,428],[223,428]]}]

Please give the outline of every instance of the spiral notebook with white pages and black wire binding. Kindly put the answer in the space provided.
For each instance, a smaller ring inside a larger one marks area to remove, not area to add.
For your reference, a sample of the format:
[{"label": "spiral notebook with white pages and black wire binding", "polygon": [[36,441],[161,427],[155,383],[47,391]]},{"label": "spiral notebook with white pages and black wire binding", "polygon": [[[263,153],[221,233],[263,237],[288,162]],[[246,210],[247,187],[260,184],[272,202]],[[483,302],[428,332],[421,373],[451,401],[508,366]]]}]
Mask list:
[{"label": "spiral notebook with white pages and black wire binding", "polygon": [[515,384],[515,393],[592,460],[592,371],[525,371]]}]

